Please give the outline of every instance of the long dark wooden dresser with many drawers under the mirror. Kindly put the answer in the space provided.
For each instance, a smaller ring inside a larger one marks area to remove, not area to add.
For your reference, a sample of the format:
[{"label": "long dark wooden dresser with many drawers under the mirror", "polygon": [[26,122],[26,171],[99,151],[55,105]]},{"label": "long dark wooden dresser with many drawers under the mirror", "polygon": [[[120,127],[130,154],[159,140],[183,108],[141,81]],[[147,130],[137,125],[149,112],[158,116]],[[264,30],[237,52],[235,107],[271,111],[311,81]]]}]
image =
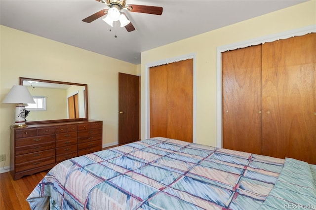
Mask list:
[{"label": "long dark wooden dresser with many drawers under the mirror", "polygon": [[69,158],[102,150],[102,121],[33,124],[11,129],[14,180],[53,168]]}]

